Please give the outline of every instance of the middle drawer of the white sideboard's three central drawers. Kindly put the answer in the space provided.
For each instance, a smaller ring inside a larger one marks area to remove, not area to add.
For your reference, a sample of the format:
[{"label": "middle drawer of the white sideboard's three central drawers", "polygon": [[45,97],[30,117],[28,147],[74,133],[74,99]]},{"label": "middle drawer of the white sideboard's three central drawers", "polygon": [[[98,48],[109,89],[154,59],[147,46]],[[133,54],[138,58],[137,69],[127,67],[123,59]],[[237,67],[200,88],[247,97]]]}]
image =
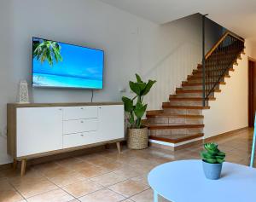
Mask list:
[{"label": "middle drawer of the white sideboard's three central drawers", "polygon": [[98,118],[63,121],[63,134],[95,131],[98,129]]}]

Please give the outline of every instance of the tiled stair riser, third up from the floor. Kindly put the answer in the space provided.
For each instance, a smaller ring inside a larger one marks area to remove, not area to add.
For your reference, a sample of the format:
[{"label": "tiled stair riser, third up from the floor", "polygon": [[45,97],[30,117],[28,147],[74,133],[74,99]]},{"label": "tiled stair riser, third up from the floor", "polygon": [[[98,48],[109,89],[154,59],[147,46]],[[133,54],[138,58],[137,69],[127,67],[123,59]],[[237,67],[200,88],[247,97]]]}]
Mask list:
[{"label": "tiled stair riser, third up from the floor", "polygon": [[158,117],[148,118],[151,124],[203,124],[203,118]]}]

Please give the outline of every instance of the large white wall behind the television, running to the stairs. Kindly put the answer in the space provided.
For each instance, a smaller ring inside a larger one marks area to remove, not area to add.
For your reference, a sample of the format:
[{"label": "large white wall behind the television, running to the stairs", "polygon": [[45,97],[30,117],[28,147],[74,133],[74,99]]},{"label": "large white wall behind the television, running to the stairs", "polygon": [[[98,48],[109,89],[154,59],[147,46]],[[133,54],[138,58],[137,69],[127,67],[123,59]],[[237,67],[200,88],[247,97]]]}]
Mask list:
[{"label": "large white wall behind the television, running to the stairs", "polygon": [[[6,103],[16,101],[21,79],[31,83],[32,36],[106,51],[104,89],[95,92],[94,101],[120,101],[119,89],[127,87],[135,72],[151,77],[152,69],[170,68],[172,83],[165,83],[170,91],[161,93],[166,99],[201,60],[198,14],[160,26],[96,0],[3,0],[0,9],[0,164],[10,160],[4,137]],[[219,29],[209,24],[210,30],[216,32],[208,38],[212,44]],[[90,101],[90,90],[30,91],[34,102]],[[156,95],[149,99],[151,108],[164,101],[155,101]]]}]

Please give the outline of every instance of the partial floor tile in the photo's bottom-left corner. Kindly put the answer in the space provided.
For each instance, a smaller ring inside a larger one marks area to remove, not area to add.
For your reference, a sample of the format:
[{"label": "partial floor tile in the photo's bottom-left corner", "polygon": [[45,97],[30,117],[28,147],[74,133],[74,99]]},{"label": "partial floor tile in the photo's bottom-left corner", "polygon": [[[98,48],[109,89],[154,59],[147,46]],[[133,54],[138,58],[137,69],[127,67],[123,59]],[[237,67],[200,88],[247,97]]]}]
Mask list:
[{"label": "partial floor tile in the photo's bottom-left corner", "polygon": [[17,202],[22,199],[20,193],[17,193],[7,180],[0,181],[0,201]]}]

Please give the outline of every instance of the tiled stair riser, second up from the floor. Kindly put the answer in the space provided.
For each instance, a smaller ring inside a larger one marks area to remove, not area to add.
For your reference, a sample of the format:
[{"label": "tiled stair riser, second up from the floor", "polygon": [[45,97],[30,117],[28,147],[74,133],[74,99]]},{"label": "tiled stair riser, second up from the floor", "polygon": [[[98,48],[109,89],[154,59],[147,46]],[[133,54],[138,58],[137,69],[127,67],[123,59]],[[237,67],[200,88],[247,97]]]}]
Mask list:
[{"label": "tiled stair riser, second up from the floor", "polygon": [[168,136],[168,135],[193,135],[196,133],[202,133],[203,128],[188,128],[188,129],[160,129],[160,130],[149,130],[150,136]]}]

